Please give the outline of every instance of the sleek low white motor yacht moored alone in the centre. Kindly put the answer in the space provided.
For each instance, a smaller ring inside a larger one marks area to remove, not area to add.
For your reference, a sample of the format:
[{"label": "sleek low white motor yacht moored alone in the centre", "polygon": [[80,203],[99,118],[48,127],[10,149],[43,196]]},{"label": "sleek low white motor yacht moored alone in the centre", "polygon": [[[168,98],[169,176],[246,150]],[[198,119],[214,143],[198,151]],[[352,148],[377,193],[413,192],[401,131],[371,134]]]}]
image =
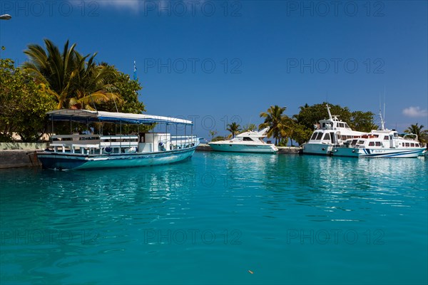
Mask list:
[{"label": "sleek low white motor yacht moored alone in the centre", "polygon": [[208,145],[213,150],[224,152],[259,152],[275,153],[278,151],[275,145],[264,142],[269,128],[260,130],[260,132],[249,131],[237,135],[232,140],[220,140],[218,142],[209,142]]}]

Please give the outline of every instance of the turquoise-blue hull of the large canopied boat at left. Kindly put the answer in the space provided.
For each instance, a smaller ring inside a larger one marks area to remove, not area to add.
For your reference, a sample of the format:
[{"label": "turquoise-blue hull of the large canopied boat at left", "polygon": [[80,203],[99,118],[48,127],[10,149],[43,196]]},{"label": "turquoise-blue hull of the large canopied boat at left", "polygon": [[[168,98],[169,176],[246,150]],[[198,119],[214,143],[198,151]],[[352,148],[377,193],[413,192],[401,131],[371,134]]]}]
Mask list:
[{"label": "turquoise-blue hull of the large canopied boat at left", "polygon": [[46,169],[83,170],[116,167],[141,167],[179,162],[191,157],[196,147],[164,152],[111,155],[81,155],[69,152],[40,152],[39,160]]}]

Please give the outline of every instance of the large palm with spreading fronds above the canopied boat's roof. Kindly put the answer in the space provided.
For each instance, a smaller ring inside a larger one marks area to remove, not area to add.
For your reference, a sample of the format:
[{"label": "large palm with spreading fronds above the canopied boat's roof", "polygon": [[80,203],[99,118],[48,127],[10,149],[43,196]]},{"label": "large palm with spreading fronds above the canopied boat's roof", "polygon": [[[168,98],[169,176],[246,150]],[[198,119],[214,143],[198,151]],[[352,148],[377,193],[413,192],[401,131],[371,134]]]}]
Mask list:
[{"label": "large palm with spreading fronds above the canopied boat's roof", "polygon": [[120,99],[116,93],[108,92],[108,81],[116,71],[111,67],[98,66],[94,61],[96,53],[90,58],[89,55],[81,56],[75,50],[76,43],[69,46],[68,41],[61,53],[49,39],[45,39],[44,43],[46,51],[36,44],[28,46],[24,53],[29,61],[23,67],[54,95],[58,102],[57,109],[91,109],[89,103]]}]

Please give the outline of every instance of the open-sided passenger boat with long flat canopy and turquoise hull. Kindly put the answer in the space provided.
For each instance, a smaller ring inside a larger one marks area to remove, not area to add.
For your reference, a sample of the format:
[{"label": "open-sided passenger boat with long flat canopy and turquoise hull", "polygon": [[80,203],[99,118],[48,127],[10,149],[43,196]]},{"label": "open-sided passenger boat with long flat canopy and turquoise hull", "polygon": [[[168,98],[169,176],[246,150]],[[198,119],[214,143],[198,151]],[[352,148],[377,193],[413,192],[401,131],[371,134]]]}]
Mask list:
[{"label": "open-sided passenger boat with long flat canopy and turquoise hull", "polygon": [[[39,152],[38,157],[44,168],[54,170],[80,170],[106,167],[138,167],[161,165],[178,162],[191,157],[199,140],[195,135],[186,135],[192,131],[193,123],[189,120],[162,117],[157,115],[111,113],[90,110],[54,110],[48,113],[54,121],[84,123],[113,123],[116,125],[165,125],[162,132],[136,132],[131,135],[103,135],[86,132],[86,134],[52,135],[50,147]],[[168,126],[171,133],[168,133]],[[184,135],[178,135],[184,130]],[[190,126],[190,128],[189,128]],[[162,127],[161,127],[162,128]],[[139,129],[139,127],[138,127]]]}]

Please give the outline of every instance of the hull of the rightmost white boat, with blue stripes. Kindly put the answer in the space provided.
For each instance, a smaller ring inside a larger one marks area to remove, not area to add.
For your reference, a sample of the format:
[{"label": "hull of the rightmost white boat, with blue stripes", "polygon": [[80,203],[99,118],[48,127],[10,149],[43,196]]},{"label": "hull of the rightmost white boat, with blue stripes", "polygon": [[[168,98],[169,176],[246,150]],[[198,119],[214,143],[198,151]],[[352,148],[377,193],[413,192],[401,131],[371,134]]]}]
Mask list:
[{"label": "hull of the rightmost white boat, with blue stripes", "polygon": [[355,148],[355,147],[334,147],[333,155],[345,157],[418,157],[423,155],[424,148],[390,148],[390,149],[370,149],[370,148]]}]

